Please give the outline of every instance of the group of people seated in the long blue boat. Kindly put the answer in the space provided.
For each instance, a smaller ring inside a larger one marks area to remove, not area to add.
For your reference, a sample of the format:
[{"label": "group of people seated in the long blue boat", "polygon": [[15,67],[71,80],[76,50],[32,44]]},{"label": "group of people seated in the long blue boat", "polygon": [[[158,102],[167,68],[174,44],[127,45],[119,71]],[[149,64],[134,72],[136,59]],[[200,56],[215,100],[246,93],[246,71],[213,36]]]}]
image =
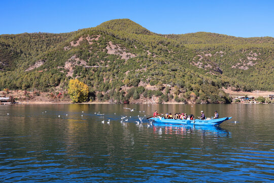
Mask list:
[{"label": "group of people seated in the long blue boat", "polygon": [[[158,114],[158,112],[157,112],[157,110],[153,113],[153,117],[157,117],[158,115],[160,115],[160,114]],[[194,117],[194,115],[193,114],[190,114],[190,115],[187,115],[187,113],[175,113],[174,114],[174,116],[172,115],[172,113],[166,113],[165,115],[164,115],[164,118],[165,119],[190,119],[190,120],[194,120],[195,119],[195,117]],[[203,111],[201,111],[201,116],[200,117],[198,117],[199,119],[202,119],[202,120],[204,120],[204,119],[207,119],[206,117],[205,117],[205,115],[204,115],[204,113],[203,113]],[[214,117],[213,117],[213,119],[218,119],[219,118],[219,114],[218,114],[218,112],[217,112],[217,110],[214,112]]]}]

